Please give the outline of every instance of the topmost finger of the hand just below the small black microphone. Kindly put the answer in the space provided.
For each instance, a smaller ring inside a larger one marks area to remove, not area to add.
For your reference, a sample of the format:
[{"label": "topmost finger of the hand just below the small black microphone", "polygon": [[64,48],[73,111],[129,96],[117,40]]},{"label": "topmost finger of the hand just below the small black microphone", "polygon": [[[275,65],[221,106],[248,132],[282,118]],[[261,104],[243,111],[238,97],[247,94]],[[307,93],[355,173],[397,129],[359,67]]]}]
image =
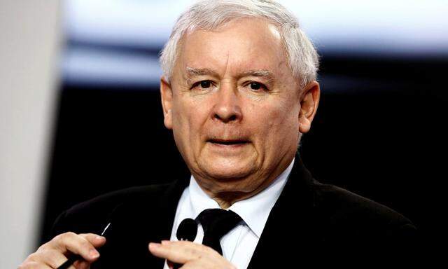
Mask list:
[{"label": "topmost finger of the hand just below the small black microphone", "polygon": [[[209,251],[207,247],[202,244],[196,244],[188,241],[164,241],[162,244],[150,243],[149,251],[154,256],[159,258],[167,258],[174,263],[186,263],[201,256],[214,256],[214,253]],[[221,256],[218,254],[218,256]]]}]

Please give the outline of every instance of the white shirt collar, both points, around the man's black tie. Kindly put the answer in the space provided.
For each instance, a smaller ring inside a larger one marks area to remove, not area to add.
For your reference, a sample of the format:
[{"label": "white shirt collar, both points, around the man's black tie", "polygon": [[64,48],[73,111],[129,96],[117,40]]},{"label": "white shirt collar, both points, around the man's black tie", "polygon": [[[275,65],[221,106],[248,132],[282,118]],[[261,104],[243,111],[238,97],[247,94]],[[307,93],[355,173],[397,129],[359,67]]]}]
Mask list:
[{"label": "white shirt collar, both points, around the man's black tie", "polygon": [[[251,228],[253,233],[260,238],[263,228],[272,207],[279,198],[283,187],[286,184],[288,176],[293,169],[294,159],[290,165],[277,177],[272,184],[267,186],[251,198],[235,202],[228,209],[237,213],[244,220],[246,225]],[[193,175],[190,178],[190,203],[193,208],[194,219],[204,210],[209,208],[221,208],[215,200],[209,197],[207,193],[197,184]]]}]

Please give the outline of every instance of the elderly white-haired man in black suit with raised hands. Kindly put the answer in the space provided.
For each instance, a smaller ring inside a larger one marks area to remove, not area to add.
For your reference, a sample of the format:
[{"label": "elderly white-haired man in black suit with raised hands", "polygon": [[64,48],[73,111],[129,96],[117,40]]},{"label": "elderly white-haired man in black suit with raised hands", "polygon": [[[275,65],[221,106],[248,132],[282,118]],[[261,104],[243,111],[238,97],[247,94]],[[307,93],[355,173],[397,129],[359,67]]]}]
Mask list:
[{"label": "elderly white-haired man in black suit with raised hands", "polygon": [[[190,179],[69,209],[22,268],[75,254],[76,268],[283,268],[412,242],[404,216],[318,183],[296,154],[318,107],[318,56],[285,8],[201,1],[176,22],[161,64],[165,126]],[[177,240],[184,219],[196,221],[193,242]]]}]

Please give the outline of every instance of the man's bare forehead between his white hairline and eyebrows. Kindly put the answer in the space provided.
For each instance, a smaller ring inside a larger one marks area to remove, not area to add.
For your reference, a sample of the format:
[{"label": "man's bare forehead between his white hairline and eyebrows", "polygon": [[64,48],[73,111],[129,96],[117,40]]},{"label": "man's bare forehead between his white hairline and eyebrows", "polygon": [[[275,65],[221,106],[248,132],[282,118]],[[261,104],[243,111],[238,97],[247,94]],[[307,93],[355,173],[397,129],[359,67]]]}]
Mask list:
[{"label": "man's bare forehead between his white hairline and eyebrows", "polygon": [[275,73],[286,67],[286,53],[274,25],[263,19],[243,18],[213,31],[186,34],[176,67],[183,72],[193,67],[219,74],[256,69]]}]

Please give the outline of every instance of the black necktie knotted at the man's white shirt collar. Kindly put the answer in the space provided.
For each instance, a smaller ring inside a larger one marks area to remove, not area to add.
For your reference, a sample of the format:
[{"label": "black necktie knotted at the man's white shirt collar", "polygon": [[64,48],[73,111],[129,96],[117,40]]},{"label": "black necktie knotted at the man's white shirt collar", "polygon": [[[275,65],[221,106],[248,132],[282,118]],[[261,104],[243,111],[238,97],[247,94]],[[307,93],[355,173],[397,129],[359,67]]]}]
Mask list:
[{"label": "black necktie knotted at the man's white shirt collar", "polygon": [[224,209],[205,209],[197,219],[204,229],[202,244],[209,246],[223,255],[219,240],[242,221],[237,213]]}]

